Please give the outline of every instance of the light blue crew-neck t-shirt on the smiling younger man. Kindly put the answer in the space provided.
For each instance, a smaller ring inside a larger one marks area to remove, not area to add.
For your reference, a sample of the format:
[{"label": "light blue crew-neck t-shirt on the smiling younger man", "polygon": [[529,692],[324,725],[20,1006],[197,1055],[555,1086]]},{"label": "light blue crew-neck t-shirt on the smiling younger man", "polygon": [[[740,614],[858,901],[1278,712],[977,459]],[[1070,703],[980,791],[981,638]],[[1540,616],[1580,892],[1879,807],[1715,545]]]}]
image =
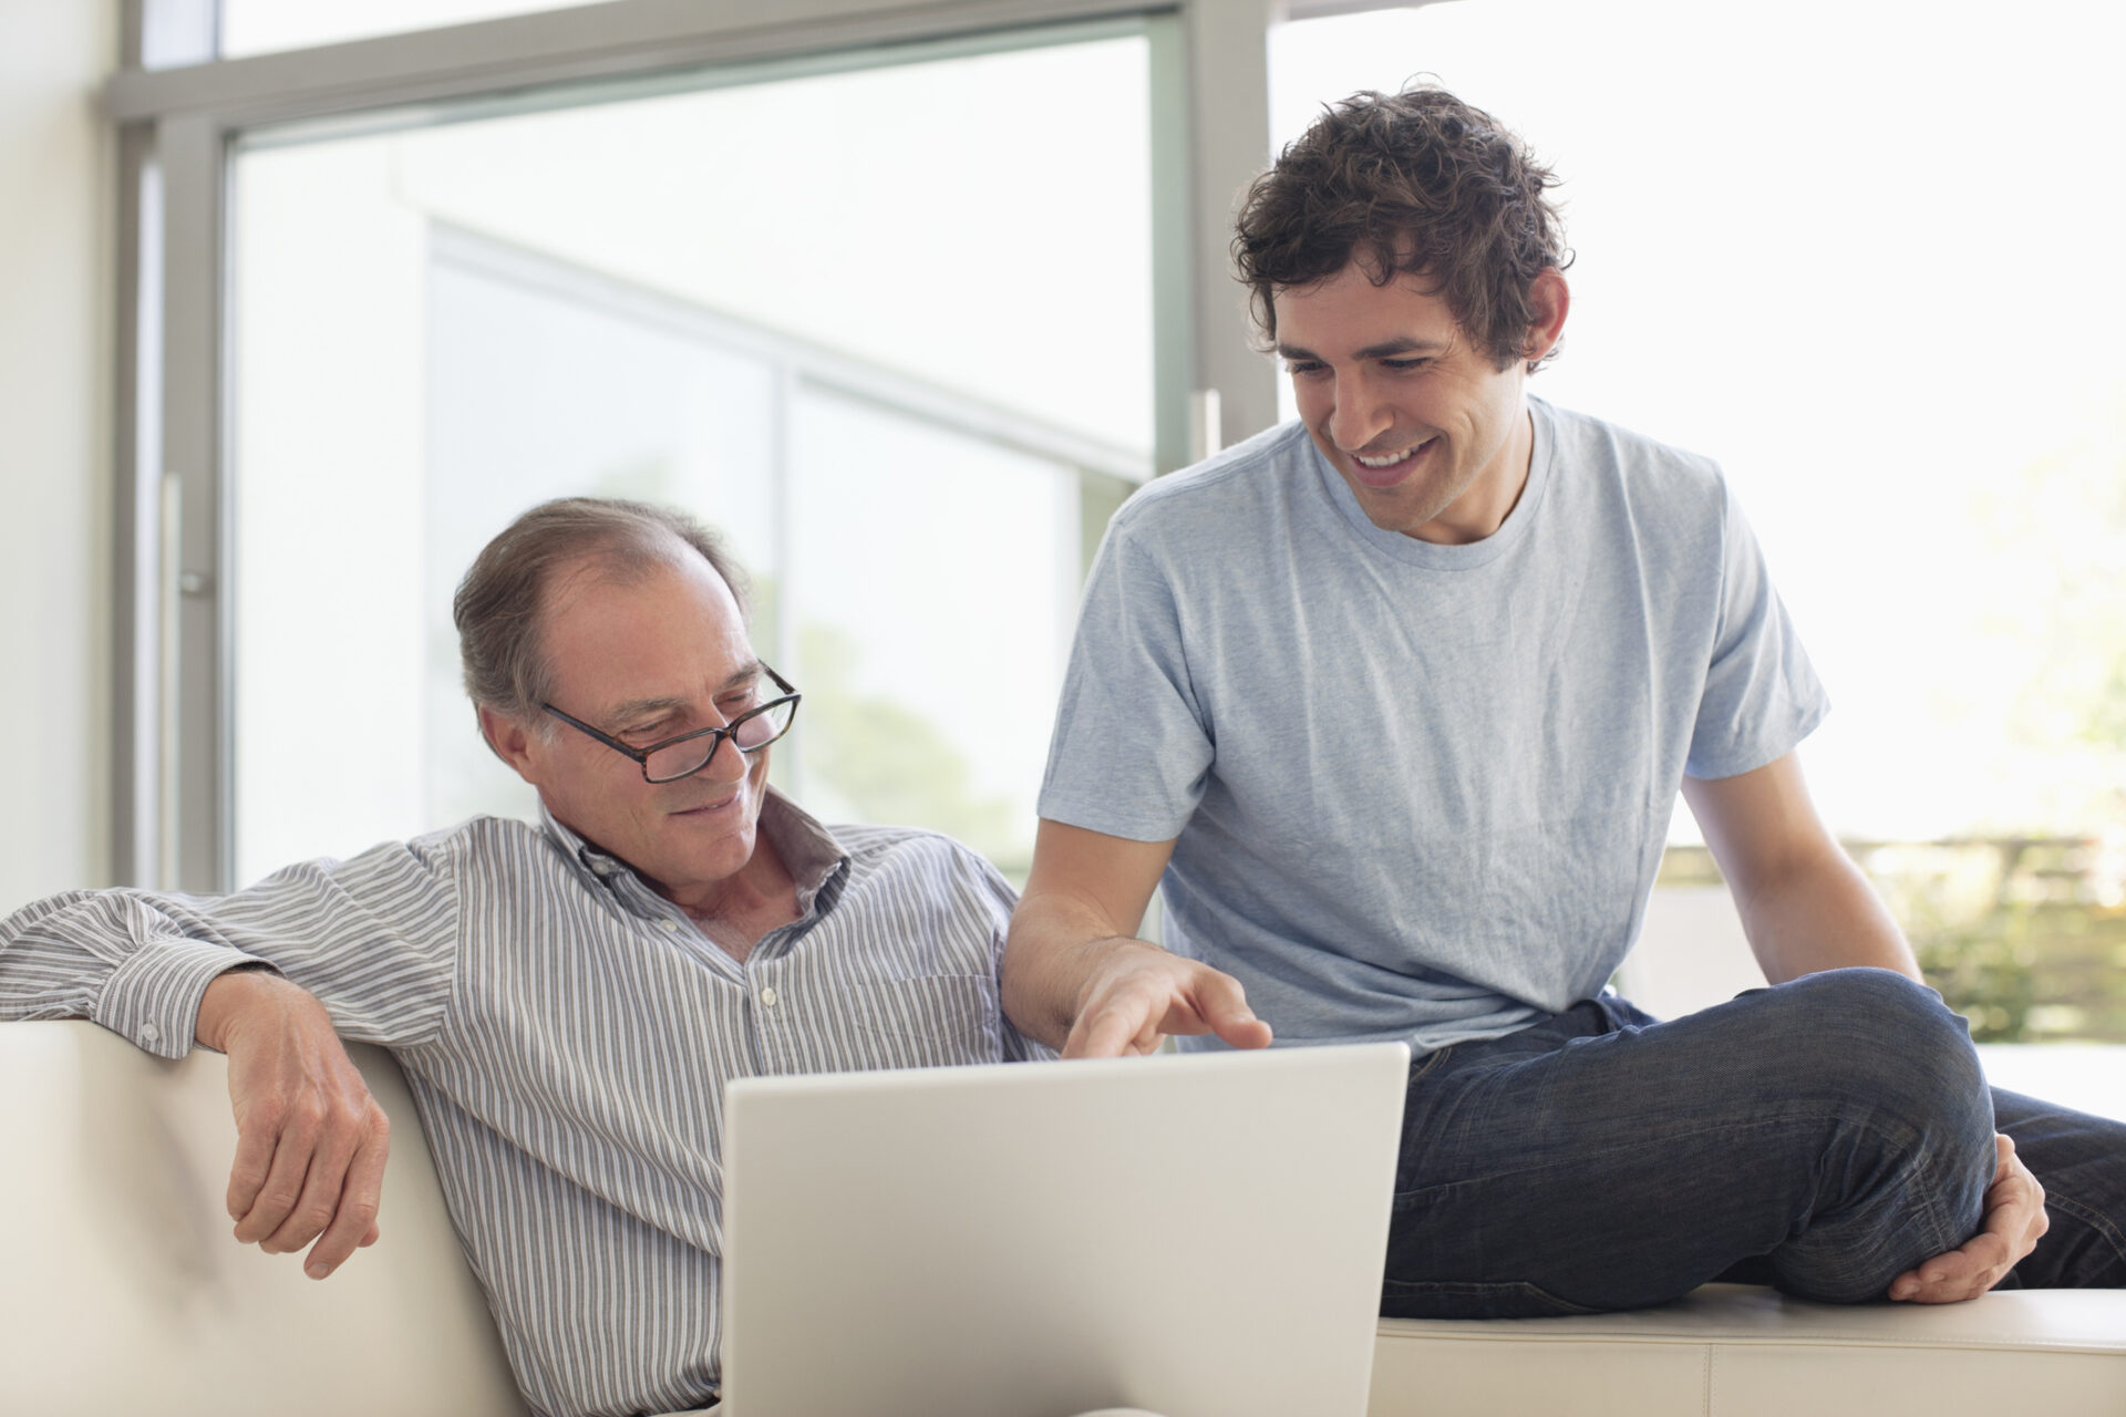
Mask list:
[{"label": "light blue crew-neck t-shirt on the smiling younger man", "polygon": [[1093,565],[1040,814],[1176,839],[1167,945],[1284,1043],[1599,994],[1682,775],[1828,707],[1718,467],[1529,404],[1482,542],[1382,531],[1293,423],[1140,491]]}]

